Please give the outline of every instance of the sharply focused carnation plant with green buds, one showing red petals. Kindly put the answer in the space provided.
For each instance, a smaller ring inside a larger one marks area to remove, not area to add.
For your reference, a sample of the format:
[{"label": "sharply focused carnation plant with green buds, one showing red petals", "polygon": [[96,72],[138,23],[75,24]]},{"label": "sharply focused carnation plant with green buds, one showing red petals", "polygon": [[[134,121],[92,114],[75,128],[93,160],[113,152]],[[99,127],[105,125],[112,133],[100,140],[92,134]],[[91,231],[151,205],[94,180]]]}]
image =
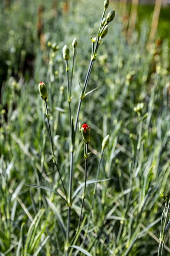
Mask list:
[{"label": "sharply focused carnation plant with green buds, one showing red petals", "polygon": [[[99,25],[99,31],[98,34],[96,36],[96,38],[91,38],[92,41],[92,51],[91,51],[91,61],[88,67],[88,72],[85,78],[85,82],[84,85],[82,87],[82,92],[80,94],[80,98],[79,98],[79,104],[78,104],[78,109],[77,109],[77,115],[76,115],[76,119],[75,119],[75,123],[74,123],[74,119],[72,118],[72,114],[71,114],[71,87],[72,87],[72,80],[73,80],[73,71],[74,71],[74,59],[75,59],[75,54],[76,54],[76,48],[77,48],[77,40],[76,38],[74,38],[73,43],[72,43],[72,47],[73,47],[73,63],[72,63],[72,72],[71,72],[71,83],[69,83],[69,68],[68,68],[68,60],[70,58],[70,50],[68,48],[67,45],[65,45],[62,49],[62,55],[63,58],[65,60],[65,70],[66,70],[66,74],[67,74],[67,98],[68,98],[68,115],[69,115],[69,123],[70,123],[70,131],[69,131],[69,137],[70,137],[70,178],[69,178],[69,189],[68,192],[65,189],[65,186],[67,186],[66,184],[64,184],[64,181],[62,180],[62,175],[61,172],[59,170],[59,166],[57,164],[57,160],[55,159],[55,155],[54,155],[54,145],[53,145],[53,138],[51,135],[51,125],[49,122],[49,114],[48,114],[48,106],[47,106],[47,100],[48,100],[48,93],[47,93],[47,87],[43,82],[40,82],[38,87],[39,87],[39,91],[40,91],[40,96],[44,101],[45,104],[45,116],[48,120],[48,130],[49,130],[49,137],[50,137],[50,141],[51,141],[51,160],[54,163],[54,166],[56,166],[57,172],[59,173],[59,178],[62,184],[62,189],[63,189],[63,193],[64,195],[60,195],[61,198],[63,198],[66,201],[66,204],[68,206],[68,221],[67,221],[67,230],[66,230],[66,240],[65,240],[65,255],[68,256],[69,252],[72,248],[77,248],[78,250],[80,250],[81,252],[85,253],[86,255],[90,255],[87,251],[85,251],[85,249],[83,249],[83,247],[79,247],[76,245],[76,241],[80,236],[81,233],[81,221],[82,221],[82,214],[83,214],[83,206],[84,206],[84,201],[85,201],[85,195],[86,195],[86,185],[87,185],[87,168],[88,168],[88,155],[90,153],[88,153],[88,143],[90,143],[91,140],[91,136],[90,136],[90,127],[87,124],[83,124],[79,125],[79,131],[82,132],[82,139],[84,141],[84,157],[85,157],[85,181],[83,184],[84,190],[82,193],[82,206],[81,206],[81,211],[80,211],[80,215],[79,215],[79,222],[78,222],[78,226],[77,226],[77,233],[75,233],[76,228],[74,228],[74,233],[75,235],[72,237],[70,236],[71,233],[71,229],[70,229],[70,225],[71,225],[71,209],[73,206],[72,203],[72,183],[73,183],[73,177],[74,177],[74,168],[73,168],[73,162],[74,162],[74,147],[75,147],[75,137],[76,137],[76,133],[77,133],[77,123],[79,121],[79,112],[80,112],[80,108],[81,108],[81,104],[82,104],[82,100],[85,99],[85,97],[90,94],[93,93],[96,88],[94,88],[91,91],[87,92],[87,87],[88,87],[88,81],[90,79],[90,75],[91,75],[91,71],[92,71],[92,67],[94,65],[94,61],[96,60],[97,57],[97,53],[98,53],[98,49],[99,46],[101,44],[101,41],[103,38],[105,38],[105,36],[108,33],[108,24],[114,19],[115,17],[115,10],[113,9],[111,12],[108,12],[108,15],[105,17],[105,12],[108,9],[109,6],[109,0],[105,0],[104,1],[104,10],[103,10],[103,14],[102,14],[102,18],[101,18],[101,22]],[[51,46],[51,43],[48,43],[49,47],[52,47],[53,51],[54,51],[54,46]],[[55,50],[56,50],[56,46],[55,46]],[[54,51],[55,52],[55,51]],[[51,90],[51,87],[49,87],[49,90]],[[49,92],[50,95],[50,102],[52,105],[52,93],[51,91]],[[96,180],[93,181],[92,183],[95,183],[95,189],[94,189],[94,194],[93,194],[93,200],[92,200],[92,205],[91,205],[91,212],[94,206],[94,196],[96,193],[96,186],[97,186],[97,182],[98,182],[98,177],[99,177],[99,170],[100,170],[100,164],[101,164],[101,159],[102,156],[104,154],[104,150],[105,148],[107,148],[109,143],[109,135],[103,140],[102,143],[102,153],[100,156],[100,161],[99,161],[99,166],[98,166],[98,170],[97,170],[97,175],[96,175]],[[40,189],[47,189],[45,187],[42,186],[38,186],[38,185],[28,185],[28,186],[34,186]],[[51,190],[51,192],[54,192]],[[56,193],[56,192],[54,192]],[[50,203],[52,204],[52,203]],[[85,231],[85,236],[88,233],[88,227],[90,224],[90,219],[91,219],[91,213],[89,215],[88,218],[88,224],[86,226],[86,231]],[[84,218],[85,220],[85,218]],[[85,221],[83,221],[83,224],[85,225]],[[82,226],[83,228],[83,226]],[[85,242],[85,239],[83,241],[83,243]],[[82,244],[83,244],[82,243]]]}]

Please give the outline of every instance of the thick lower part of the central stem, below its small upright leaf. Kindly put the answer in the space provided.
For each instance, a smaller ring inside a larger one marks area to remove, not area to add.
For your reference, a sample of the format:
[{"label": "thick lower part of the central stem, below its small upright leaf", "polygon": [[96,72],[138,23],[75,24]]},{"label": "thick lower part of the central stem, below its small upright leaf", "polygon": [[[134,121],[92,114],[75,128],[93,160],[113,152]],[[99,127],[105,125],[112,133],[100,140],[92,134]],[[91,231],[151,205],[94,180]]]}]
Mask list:
[{"label": "thick lower part of the central stem, below its small upright leaf", "polygon": [[70,242],[70,221],[71,221],[71,192],[72,192],[72,182],[73,182],[73,156],[74,156],[74,151],[71,151],[71,164],[70,164],[70,178],[69,178],[69,191],[68,191],[68,221],[67,221],[67,234],[66,234],[66,256],[68,256],[68,246]]}]

